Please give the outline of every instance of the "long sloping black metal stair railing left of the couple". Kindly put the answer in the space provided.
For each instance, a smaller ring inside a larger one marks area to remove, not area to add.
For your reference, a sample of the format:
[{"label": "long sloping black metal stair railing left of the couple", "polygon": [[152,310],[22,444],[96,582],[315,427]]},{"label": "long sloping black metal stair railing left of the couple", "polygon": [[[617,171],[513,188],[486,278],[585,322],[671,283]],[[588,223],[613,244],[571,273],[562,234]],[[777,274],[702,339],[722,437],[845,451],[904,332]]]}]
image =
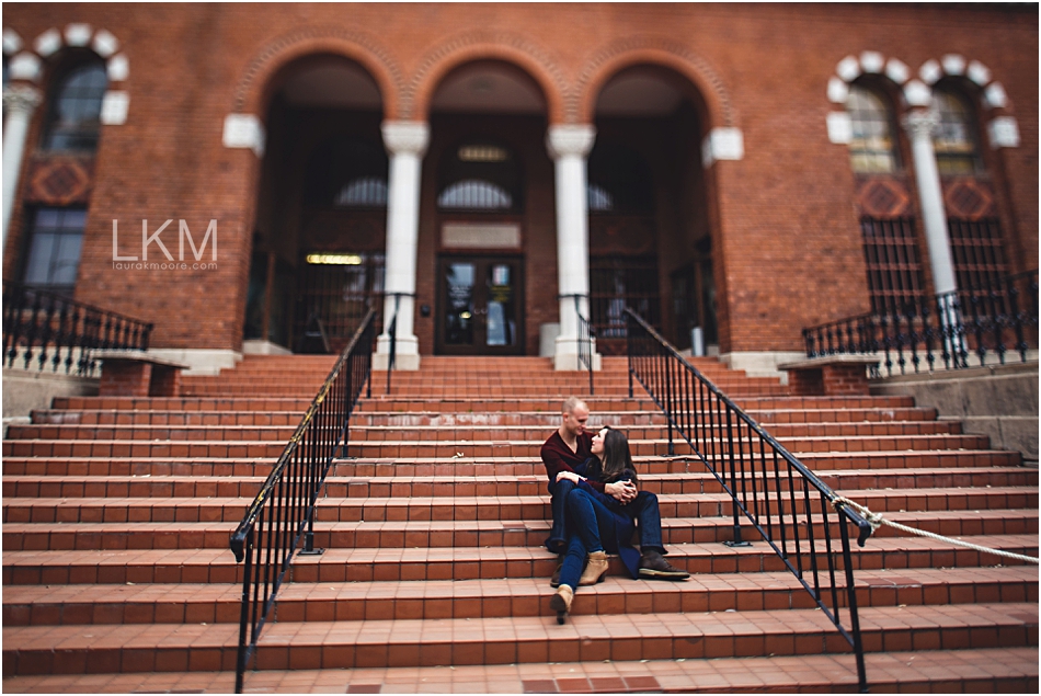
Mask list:
[{"label": "long sloping black metal stair railing left of the couple", "polygon": [[370,309],[340,354],[318,396],[245,516],[231,535],[236,560],[245,562],[234,691],[242,693],[247,665],[261,630],[275,605],[278,589],[304,539],[304,554],[314,549],[314,510],[325,475],[338,452],[346,455],[351,412],[368,389],[376,336],[376,311]]}]

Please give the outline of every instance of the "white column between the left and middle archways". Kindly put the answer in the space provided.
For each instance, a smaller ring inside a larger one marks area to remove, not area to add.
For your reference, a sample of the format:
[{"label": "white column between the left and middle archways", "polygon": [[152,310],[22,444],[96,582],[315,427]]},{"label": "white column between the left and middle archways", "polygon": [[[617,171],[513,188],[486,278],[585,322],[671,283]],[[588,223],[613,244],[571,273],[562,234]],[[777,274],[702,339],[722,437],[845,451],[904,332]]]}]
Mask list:
[{"label": "white column between the left and middle archways", "polygon": [[[386,369],[390,322],[397,316],[394,369],[420,368],[420,344],[413,331],[415,260],[420,230],[420,182],[430,128],[415,121],[387,121],[384,146],[390,155],[387,192],[387,260],[384,333],[376,344],[374,367]],[[399,295],[394,296],[394,293]],[[396,315],[397,312],[397,315]]]}]

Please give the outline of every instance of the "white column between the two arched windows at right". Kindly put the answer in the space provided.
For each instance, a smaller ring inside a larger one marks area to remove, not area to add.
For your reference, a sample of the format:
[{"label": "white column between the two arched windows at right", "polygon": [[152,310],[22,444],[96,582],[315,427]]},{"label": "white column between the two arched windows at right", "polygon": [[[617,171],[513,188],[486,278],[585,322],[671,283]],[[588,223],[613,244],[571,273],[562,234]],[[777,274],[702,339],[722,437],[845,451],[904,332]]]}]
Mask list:
[{"label": "white column between the two arched windows at right", "polygon": [[933,132],[939,118],[933,112],[915,110],[904,117],[904,128],[911,136],[911,149],[915,160],[915,181],[918,184],[918,203],[925,225],[926,242],[929,246],[929,266],[937,293],[957,289],[954,260],[951,255],[947,231],[947,213],[943,210],[943,190],[940,172],[933,149]]}]

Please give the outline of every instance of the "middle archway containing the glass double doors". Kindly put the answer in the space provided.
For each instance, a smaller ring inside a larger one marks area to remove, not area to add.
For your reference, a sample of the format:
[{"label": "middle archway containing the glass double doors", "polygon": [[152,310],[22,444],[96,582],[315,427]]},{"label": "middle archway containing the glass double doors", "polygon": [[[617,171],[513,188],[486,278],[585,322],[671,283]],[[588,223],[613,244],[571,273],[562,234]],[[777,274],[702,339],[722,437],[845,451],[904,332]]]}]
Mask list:
[{"label": "middle archway containing the glass double doors", "polygon": [[530,274],[556,265],[545,96],[511,64],[468,62],[437,85],[430,124],[416,336],[437,354],[537,354],[554,297]]}]

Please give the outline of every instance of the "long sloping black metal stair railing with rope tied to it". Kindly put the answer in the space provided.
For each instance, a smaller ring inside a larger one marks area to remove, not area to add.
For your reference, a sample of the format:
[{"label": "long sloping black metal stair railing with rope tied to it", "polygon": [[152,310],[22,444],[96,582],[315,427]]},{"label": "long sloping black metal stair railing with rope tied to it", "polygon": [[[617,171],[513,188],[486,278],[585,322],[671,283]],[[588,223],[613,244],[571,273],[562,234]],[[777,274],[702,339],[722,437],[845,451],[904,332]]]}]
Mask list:
[{"label": "long sloping black metal stair railing with rope tied to it", "polygon": [[[668,453],[678,434],[731,497],[733,538],[741,517],[769,544],[849,641],[867,689],[849,525],[863,546],[871,525],[769,433],[687,363],[642,317],[628,318],[629,396],[638,380],[665,414]],[[838,535],[836,548],[835,535]]]}]

